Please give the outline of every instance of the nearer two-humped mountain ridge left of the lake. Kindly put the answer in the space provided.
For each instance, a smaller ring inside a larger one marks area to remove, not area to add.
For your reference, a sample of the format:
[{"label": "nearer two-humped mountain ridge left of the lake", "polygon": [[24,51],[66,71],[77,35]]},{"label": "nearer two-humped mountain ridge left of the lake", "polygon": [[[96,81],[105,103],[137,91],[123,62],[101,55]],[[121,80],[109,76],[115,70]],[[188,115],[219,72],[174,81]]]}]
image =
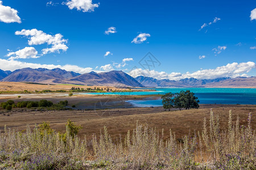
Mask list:
[{"label": "nearer two-humped mountain ridge left of the lake", "polygon": [[143,87],[141,83],[123,71],[79,74],[61,69],[24,68],[13,71],[2,82],[68,83],[102,86]]}]

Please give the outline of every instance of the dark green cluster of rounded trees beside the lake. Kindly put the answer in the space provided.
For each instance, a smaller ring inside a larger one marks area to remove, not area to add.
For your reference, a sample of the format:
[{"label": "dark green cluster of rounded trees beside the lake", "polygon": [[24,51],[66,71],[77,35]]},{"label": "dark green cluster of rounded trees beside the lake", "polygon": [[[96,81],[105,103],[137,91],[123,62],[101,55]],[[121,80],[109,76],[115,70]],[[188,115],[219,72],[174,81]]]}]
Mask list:
[{"label": "dark green cluster of rounded trees beside the lake", "polygon": [[190,109],[190,108],[199,108],[199,100],[195,96],[193,92],[180,91],[179,93],[167,93],[162,97],[163,108],[172,109],[179,108],[180,111],[182,108]]}]

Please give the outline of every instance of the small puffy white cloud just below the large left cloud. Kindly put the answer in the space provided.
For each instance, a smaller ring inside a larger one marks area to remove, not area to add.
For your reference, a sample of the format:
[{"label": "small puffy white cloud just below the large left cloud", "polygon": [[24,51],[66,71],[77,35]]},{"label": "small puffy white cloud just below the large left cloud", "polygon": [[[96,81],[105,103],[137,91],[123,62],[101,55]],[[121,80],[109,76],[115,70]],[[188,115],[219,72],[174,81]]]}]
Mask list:
[{"label": "small puffy white cloud just below the large left cloud", "polygon": [[38,58],[38,51],[34,47],[25,47],[23,49],[20,49],[16,52],[10,52],[6,55],[7,57],[10,57],[9,60],[18,59],[18,58]]}]

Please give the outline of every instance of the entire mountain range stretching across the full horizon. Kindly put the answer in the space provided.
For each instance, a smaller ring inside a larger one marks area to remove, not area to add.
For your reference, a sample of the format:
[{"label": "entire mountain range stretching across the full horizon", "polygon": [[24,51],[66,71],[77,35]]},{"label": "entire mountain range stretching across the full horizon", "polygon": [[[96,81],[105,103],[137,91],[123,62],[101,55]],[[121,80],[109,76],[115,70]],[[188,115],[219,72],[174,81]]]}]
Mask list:
[{"label": "entire mountain range stretching across the full horizon", "polygon": [[154,79],[145,76],[132,76],[123,71],[109,71],[104,73],[79,74],[62,69],[18,69],[13,72],[0,70],[1,82],[35,82],[46,84],[81,84],[97,86],[119,87],[256,87],[256,77],[195,79],[181,80]]}]

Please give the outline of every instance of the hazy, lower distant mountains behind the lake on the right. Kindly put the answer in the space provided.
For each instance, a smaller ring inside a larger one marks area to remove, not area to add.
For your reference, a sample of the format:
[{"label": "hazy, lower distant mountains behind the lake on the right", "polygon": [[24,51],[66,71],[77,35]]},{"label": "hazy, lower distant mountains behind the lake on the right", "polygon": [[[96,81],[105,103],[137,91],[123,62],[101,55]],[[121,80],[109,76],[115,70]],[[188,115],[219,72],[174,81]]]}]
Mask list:
[{"label": "hazy, lower distant mountains behind the lake on the right", "polygon": [[157,80],[150,77],[138,76],[135,79],[145,87],[256,87],[256,77],[203,80],[186,78],[175,81],[168,79]]}]

